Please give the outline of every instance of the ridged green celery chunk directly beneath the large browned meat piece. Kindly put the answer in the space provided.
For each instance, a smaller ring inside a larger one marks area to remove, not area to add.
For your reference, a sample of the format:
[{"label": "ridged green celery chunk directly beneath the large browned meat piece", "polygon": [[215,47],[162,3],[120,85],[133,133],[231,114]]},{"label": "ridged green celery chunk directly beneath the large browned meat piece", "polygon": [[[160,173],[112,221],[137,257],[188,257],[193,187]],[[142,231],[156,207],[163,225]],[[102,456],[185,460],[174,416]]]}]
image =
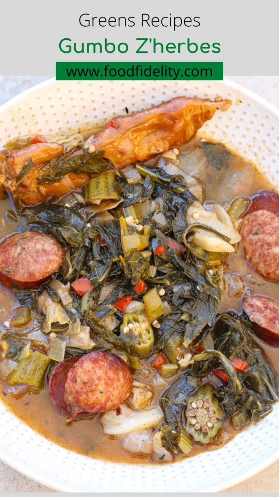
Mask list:
[{"label": "ridged green celery chunk directly beneath the large browned meat piece", "polygon": [[91,178],[84,187],[85,202],[96,203],[101,200],[118,200],[120,198],[115,172],[100,174]]}]

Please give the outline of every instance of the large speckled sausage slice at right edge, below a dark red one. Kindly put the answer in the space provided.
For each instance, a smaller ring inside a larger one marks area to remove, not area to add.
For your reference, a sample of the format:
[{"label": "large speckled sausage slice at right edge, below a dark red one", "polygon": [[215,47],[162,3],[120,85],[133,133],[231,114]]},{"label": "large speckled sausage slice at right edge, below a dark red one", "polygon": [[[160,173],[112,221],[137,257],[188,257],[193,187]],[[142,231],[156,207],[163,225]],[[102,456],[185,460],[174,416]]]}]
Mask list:
[{"label": "large speckled sausage slice at right edge, below a dark red one", "polygon": [[245,257],[264,278],[279,280],[279,216],[261,209],[247,214],[241,226]]}]

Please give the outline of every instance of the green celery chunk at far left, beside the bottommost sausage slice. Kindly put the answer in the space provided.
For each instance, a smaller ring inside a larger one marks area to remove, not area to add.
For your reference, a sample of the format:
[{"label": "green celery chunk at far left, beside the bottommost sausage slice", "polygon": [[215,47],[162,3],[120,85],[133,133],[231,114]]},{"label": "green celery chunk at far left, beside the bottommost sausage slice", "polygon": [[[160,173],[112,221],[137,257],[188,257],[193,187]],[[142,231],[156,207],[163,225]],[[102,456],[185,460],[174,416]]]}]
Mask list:
[{"label": "green celery chunk at far left, beside the bottommost sausage slice", "polygon": [[51,358],[47,355],[30,350],[28,357],[18,361],[7,381],[10,385],[18,383],[39,388],[50,362]]}]

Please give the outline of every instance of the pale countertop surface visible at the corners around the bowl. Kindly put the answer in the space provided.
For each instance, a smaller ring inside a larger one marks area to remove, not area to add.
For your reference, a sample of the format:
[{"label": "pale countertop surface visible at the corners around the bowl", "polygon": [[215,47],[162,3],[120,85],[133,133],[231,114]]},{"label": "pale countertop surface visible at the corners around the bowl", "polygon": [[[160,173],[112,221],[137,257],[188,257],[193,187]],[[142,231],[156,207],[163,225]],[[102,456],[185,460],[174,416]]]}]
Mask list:
[{"label": "pale countertop surface visible at the corners around the bowl", "polygon": [[[21,91],[51,78],[40,76],[0,76],[0,105]],[[279,107],[279,76],[227,76],[255,91]],[[52,492],[0,461],[0,492]],[[279,461],[225,492],[279,492]]]}]

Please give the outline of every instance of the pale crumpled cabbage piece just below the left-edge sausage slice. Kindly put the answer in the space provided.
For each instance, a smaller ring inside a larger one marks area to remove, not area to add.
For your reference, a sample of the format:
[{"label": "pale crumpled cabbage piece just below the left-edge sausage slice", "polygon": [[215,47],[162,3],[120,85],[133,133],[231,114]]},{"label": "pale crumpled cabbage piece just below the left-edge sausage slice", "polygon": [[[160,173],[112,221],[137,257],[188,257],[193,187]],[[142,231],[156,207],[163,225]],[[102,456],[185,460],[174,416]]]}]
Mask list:
[{"label": "pale crumpled cabbage piece just below the left-edge sausage slice", "polygon": [[70,323],[70,318],[64,311],[59,302],[54,302],[46,290],[38,297],[37,311],[40,314],[45,314],[46,320],[43,325],[43,331],[49,333],[53,323],[67,325]]}]

